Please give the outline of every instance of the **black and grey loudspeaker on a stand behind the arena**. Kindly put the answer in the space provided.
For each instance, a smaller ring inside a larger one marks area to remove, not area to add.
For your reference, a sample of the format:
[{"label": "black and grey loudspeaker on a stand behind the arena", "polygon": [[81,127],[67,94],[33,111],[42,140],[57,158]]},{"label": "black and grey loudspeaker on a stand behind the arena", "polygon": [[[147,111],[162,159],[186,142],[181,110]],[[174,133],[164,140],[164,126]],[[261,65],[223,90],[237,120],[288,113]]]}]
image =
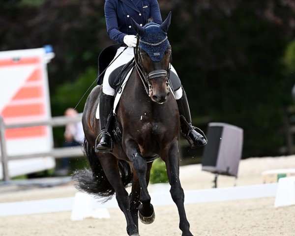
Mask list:
[{"label": "black and grey loudspeaker on a stand behind the arena", "polygon": [[207,129],[208,144],[204,148],[202,170],[218,175],[237,177],[243,149],[243,129],[237,126],[212,122]]}]

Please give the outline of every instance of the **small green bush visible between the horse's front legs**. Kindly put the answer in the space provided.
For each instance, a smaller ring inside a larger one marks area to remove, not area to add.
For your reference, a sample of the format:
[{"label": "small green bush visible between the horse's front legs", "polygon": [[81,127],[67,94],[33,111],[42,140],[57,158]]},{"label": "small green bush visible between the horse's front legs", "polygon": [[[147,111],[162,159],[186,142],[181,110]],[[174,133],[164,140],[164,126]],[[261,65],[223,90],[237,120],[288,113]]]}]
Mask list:
[{"label": "small green bush visible between the horse's front legs", "polygon": [[168,182],[165,162],[163,162],[160,159],[156,159],[152,163],[149,182],[150,183],[167,183]]}]

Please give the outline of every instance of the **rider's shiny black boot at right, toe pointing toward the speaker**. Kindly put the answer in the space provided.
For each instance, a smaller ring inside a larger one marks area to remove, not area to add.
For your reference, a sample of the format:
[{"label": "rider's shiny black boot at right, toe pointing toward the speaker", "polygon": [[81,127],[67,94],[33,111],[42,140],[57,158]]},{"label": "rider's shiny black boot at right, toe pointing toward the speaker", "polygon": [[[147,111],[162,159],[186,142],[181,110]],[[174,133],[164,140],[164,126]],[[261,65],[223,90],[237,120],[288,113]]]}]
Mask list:
[{"label": "rider's shiny black boot at right, toe pointing toward the speaker", "polygon": [[205,134],[202,132],[202,130],[197,128],[203,135],[195,130],[196,127],[192,126],[192,119],[190,116],[186,93],[183,88],[182,91],[182,97],[176,100],[180,116],[181,133],[184,136],[184,138],[188,140],[191,148],[205,146],[207,144],[207,138],[205,137]]}]

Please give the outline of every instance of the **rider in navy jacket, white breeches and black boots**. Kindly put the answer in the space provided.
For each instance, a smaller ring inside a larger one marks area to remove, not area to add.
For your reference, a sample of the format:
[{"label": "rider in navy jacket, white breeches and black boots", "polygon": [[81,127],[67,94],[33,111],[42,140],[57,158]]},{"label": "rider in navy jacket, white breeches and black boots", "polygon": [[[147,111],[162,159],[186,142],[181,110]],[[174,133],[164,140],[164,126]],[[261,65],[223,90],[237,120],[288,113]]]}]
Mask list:
[{"label": "rider in navy jacket, white breeches and black boots", "polygon": [[[133,47],[136,47],[137,39],[135,36],[136,31],[131,26],[131,18],[140,24],[140,26],[146,25],[149,18],[152,18],[156,24],[162,24],[157,0],[106,0],[104,11],[108,35],[118,43],[125,43],[128,48],[126,50],[124,50],[125,47],[118,49],[115,58],[120,53],[121,55],[107,68],[104,75],[102,93],[99,98],[101,139],[100,143],[96,146],[96,149],[102,152],[111,148],[111,136],[108,130],[106,130],[106,123],[113,107],[115,90],[109,84],[109,76],[116,68],[126,64],[134,57]],[[171,66],[171,71],[177,75],[173,66]],[[175,91],[175,98],[177,100],[179,115],[183,116],[187,121],[180,120],[182,134],[191,140],[194,146],[200,147],[206,145],[207,140],[191,125],[189,106],[182,86]]]}]

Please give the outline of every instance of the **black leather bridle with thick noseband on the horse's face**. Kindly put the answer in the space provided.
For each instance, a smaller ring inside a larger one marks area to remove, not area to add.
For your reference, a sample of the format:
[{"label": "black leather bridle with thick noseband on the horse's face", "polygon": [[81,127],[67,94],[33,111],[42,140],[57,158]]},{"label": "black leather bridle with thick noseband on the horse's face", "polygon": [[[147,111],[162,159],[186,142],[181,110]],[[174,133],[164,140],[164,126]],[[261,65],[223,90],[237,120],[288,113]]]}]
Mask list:
[{"label": "black leather bridle with thick noseband on the horse's face", "polygon": [[[135,61],[136,70],[137,70],[137,72],[139,74],[139,77],[140,77],[141,81],[144,84],[144,87],[145,87],[145,90],[146,90],[148,96],[150,96],[150,91],[152,89],[152,85],[150,84],[149,81],[151,79],[158,78],[158,77],[167,77],[167,82],[166,82],[167,88],[169,89],[169,86],[170,86],[171,90],[173,91],[172,83],[170,81],[172,55],[170,55],[170,62],[169,62],[168,71],[167,70],[154,70],[154,71],[151,71],[151,72],[147,73],[145,71],[144,67],[143,67],[143,64],[142,64],[142,61],[141,61],[141,58],[140,58],[139,41],[140,41],[140,36],[139,36],[139,34],[137,34],[137,43],[136,43],[136,47],[134,48],[134,61]],[[162,41],[160,43],[163,43],[164,41]],[[157,45],[159,45],[159,44],[157,44]]]}]

